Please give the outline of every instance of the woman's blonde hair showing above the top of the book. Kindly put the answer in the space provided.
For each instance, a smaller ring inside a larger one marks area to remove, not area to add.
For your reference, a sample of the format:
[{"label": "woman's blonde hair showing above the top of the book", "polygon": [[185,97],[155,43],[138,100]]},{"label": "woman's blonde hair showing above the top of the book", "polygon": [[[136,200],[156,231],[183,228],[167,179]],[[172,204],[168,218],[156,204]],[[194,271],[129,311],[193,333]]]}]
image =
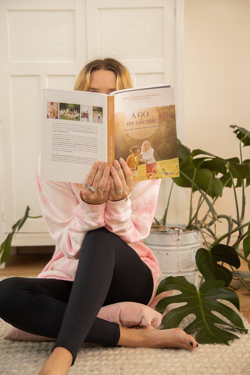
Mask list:
[{"label": "woman's blonde hair showing above the top of the book", "polygon": [[90,87],[91,72],[96,70],[112,71],[116,75],[115,90],[130,89],[133,87],[129,70],[121,62],[112,57],[99,58],[88,62],[76,78],[74,90],[88,91]]}]

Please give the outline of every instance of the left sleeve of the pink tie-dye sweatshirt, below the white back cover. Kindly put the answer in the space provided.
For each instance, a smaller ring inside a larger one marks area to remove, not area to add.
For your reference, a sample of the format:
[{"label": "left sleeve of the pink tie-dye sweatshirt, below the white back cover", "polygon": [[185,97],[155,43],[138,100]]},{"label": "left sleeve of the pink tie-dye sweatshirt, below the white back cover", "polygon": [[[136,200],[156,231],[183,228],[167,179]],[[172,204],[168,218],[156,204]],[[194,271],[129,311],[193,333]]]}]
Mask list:
[{"label": "left sleeve of the pink tie-dye sweatshirt, below the white back cover", "polygon": [[105,225],[106,202],[80,203],[67,182],[42,180],[40,157],[36,170],[37,197],[43,220],[52,239],[66,258],[79,259],[82,242],[87,232]]}]

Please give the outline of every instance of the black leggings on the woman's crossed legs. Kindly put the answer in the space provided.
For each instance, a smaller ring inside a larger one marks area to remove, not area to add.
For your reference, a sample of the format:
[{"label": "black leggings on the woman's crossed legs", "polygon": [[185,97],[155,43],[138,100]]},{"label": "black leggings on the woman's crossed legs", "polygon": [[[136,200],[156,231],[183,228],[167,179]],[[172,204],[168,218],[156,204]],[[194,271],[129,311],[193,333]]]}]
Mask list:
[{"label": "black leggings on the woman's crossed legs", "polygon": [[[120,326],[97,318],[102,306],[131,301],[147,305],[150,268],[136,251],[105,227],[88,231],[74,281],[10,277],[0,281],[0,317],[34,335],[57,339],[72,364],[83,342],[117,345]],[[51,351],[51,352],[52,352]]]}]

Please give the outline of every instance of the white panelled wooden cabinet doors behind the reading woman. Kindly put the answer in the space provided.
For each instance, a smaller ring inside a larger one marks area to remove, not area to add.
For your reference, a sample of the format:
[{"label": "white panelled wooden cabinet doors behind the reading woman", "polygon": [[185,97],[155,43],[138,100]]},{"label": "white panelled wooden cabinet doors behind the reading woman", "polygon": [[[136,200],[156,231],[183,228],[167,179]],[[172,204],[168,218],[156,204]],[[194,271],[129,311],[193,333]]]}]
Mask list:
[{"label": "white panelled wooden cabinet doors behind the reading woman", "polygon": [[[0,1],[0,242],[27,207],[40,215],[36,165],[45,87],[72,90],[81,68],[117,57],[134,86],[175,87],[177,134],[184,141],[184,0]],[[162,181],[156,216],[171,179]],[[173,222],[184,222],[186,192],[175,186]],[[42,220],[27,219],[12,246],[52,245]]]}]

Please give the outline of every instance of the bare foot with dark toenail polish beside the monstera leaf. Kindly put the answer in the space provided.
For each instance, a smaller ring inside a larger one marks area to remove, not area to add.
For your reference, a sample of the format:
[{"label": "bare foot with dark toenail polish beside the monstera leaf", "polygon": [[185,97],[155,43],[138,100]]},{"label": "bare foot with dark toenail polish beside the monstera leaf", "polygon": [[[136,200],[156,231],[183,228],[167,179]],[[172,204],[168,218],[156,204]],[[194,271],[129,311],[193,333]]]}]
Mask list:
[{"label": "bare foot with dark toenail polish beside the monstera leaf", "polygon": [[[142,346],[146,348],[180,348],[193,350],[198,342],[180,328],[155,329],[152,326],[137,326],[141,335]],[[192,343],[193,345],[190,345]]]}]

